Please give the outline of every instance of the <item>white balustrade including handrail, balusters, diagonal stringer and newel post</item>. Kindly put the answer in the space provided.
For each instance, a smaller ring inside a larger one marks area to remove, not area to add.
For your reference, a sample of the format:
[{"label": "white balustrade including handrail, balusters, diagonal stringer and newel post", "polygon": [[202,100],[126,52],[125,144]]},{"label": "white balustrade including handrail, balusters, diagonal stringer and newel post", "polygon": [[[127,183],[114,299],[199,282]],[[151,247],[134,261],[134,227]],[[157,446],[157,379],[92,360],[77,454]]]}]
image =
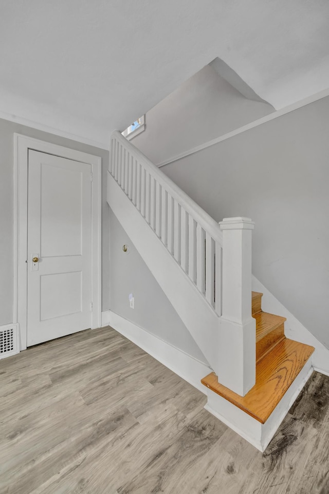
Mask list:
[{"label": "white balustrade including handrail, balusters, diagonal stringer and newel post", "polygon": [[[255,320],[251,317],[253,222],[250,218],[225,218],[218,225],[117,131],[111,137],[109,175],[108,204],[134,233],[145,262],[152,265],[151,271],[204,351],[218,380],[244,396],[255,383]],[[124,194],[121,190],[117,194],[117,185],[131,201],[129,207],[134,213],[130,214],[135,216],[135,223],[142,221],[143,238],[148,238],[156,250],[156,234],[166,248],[165,257],[161,244],[156,254],[141,241],[140,231],[126,214]],[[178,267],[173,264],[177,270],[169,267],[166,250],[178,263]],[[156,255],[161,255],[174,279],[169,281],[159,269]],[[185,285],[180,283],[180,273]],[[181,293],[177,287],[183,285],[185,291]]]}]

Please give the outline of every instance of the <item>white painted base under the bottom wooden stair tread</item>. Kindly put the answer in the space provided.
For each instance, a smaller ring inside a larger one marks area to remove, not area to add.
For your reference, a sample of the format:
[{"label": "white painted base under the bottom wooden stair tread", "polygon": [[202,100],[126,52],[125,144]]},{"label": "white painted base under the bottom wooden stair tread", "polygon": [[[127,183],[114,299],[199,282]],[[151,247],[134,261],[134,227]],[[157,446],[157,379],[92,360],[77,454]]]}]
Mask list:
[{"label": "white painted base under the bottom wooden stair tread", "polygon": [[277,432],[282,420],[287,415],[291,405],[297,399],[312,372],[312,359],[309,359],[265,424],[261,424],[261,422],[255,420],[211,390],[208,390],[207,393],[208,402],[205,405],[205,409],[246,439],[248,443],[263,452]]}]

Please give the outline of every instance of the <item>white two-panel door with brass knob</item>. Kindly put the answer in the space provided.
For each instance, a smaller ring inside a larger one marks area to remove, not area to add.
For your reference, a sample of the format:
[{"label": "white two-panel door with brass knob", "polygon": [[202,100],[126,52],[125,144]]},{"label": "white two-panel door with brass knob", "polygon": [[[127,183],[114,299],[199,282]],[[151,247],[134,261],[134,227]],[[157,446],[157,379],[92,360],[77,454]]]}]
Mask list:
[{"label": "white two-panel door with brass knob", "polygon": [[90,164],[29,150],[28,346],[91,326],[90,177]]}]

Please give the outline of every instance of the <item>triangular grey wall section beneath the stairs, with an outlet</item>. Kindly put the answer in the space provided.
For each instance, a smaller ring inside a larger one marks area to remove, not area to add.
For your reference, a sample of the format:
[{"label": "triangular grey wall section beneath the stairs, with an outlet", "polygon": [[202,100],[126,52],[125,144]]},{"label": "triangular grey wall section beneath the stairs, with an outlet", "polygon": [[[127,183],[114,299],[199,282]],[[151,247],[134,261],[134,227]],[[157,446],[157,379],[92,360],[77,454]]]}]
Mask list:
[{"label": "triangular grey wall section beneath the stairs, with an outlet", "polygon": [[[182,323],[110,209],[111,310],[137,326],[207,364],[207,360]],[[123,252],[122,246],[129,246]],[[133,293],[135,308],[129,306]]]}]

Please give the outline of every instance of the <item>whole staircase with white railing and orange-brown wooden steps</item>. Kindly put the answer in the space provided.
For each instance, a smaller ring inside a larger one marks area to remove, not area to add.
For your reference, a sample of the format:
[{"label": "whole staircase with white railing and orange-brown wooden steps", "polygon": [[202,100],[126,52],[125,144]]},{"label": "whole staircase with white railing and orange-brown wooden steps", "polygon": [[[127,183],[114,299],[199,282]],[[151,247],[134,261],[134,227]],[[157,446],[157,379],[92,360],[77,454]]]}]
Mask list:
[{"label": "whole staircase with white railing and orange-brown wooden steps", "polygon": [[312,372],[313,347],[252,292],[249,218],[219,225],[119,132],[107,202],[213,372],[206,409],[264,451]]}]

